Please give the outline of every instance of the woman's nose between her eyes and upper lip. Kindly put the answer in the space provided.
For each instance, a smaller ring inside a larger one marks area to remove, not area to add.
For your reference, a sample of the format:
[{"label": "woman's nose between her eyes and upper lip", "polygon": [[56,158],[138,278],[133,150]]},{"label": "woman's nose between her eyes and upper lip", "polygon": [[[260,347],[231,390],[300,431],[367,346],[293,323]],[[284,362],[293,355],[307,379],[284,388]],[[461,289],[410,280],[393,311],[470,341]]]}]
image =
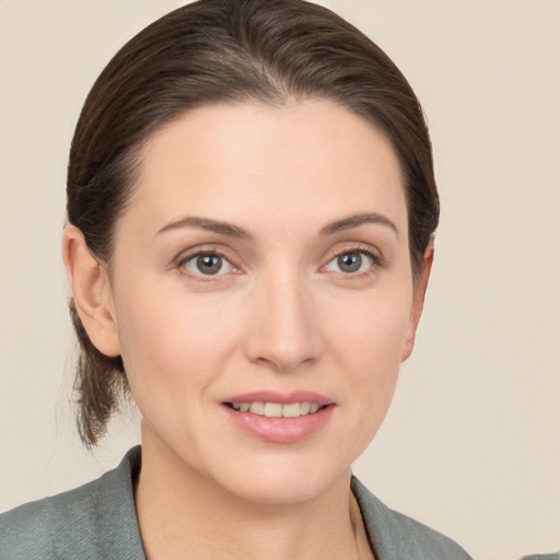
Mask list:
[{"label": "woman's nose between her eyes and upper lip", "polygon": [[267,275],[252,294],[247,358],[278,372],[295,372],[323,352],[319,308],[298,272]]}]

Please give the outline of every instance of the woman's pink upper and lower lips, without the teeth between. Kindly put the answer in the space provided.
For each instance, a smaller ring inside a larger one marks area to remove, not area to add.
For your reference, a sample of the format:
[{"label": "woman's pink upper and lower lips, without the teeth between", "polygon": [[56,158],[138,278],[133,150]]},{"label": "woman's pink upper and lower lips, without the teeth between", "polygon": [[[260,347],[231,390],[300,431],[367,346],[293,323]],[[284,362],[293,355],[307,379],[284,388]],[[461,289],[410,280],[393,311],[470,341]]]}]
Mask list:
[{"label": "woman's pink upper and lower lips, without the teeth between", "polygon": [[[267,418],[265,416],[241,412],[226,406],[241,402],[318,402],[322,408],[312,415],[299,418]],[[223,404],[223,409],[234,425],[245,433],[268,443],[296,443],[318,432],[329,420],[335,402],[324,395],[310,392],[281,394],[277,392],[256,392],[236,395]]]}]

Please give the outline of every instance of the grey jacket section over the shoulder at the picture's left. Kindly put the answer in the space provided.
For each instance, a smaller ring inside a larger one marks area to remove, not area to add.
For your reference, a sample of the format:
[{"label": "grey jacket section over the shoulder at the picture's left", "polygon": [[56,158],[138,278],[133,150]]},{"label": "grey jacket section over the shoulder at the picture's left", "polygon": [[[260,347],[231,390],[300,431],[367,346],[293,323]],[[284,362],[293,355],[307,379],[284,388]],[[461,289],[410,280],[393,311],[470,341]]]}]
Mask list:
[{"label": "grey jacket section over the shoulder at the picture's left", "polygon": [[93,482],[0,515],[0,559],[143,558],[132,494],[139,462],[137,447]]}]

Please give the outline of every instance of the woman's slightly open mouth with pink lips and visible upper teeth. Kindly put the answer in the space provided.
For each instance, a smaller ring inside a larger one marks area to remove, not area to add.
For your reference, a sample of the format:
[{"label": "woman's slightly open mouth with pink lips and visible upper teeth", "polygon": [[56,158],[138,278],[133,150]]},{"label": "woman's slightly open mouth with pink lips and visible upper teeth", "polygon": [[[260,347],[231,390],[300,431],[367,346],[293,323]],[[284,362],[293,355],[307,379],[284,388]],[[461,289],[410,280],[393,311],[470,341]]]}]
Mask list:
[{"label": "woman's slightly open mouth with pink lips and visible upper teeth", "polygon": [[259,392],[236,395],[223,402],[234,425],[261,441],[295,443],[319,431],[335,402],[316,393]]}]

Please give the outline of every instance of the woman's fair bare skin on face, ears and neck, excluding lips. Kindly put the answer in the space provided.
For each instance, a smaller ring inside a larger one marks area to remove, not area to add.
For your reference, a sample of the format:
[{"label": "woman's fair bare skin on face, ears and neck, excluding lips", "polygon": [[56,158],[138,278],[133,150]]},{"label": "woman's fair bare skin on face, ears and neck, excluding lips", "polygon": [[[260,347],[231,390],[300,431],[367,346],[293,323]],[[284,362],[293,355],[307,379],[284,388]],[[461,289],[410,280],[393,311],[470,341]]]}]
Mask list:
[{"label": "woman's fair bare skin on face, ears and neck, excluding lips", "polygon": [[[363,214],[376,220],[340,226]],[[372,558],[351,525],[350,467],[387,412],[422,311],[432,250],[415,282],[407,220],[384,135],[304,101],[200,108],[150,138],[110,270],[67,226],[80,317],[102,352],[122,355],[143,418],[136,499],[149,558],[187,546],[202,559]],[[200,252],[222,256],[219,273],[197,268]],[[349,272],[339,255],[362,266]],[[264,389],[319,393],[331,415],[302,441],[261,441],[223,402]]]}]

